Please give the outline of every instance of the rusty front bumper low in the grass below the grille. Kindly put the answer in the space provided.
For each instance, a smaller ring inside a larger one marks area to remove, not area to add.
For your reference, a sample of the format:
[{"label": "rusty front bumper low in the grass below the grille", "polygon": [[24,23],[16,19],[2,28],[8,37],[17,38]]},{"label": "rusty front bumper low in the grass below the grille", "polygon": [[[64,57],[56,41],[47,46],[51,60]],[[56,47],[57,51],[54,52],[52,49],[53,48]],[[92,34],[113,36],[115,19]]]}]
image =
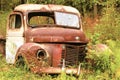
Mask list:
[{"label": "rusty front bumper low in the grass below the grille", "polygon": [[65,72],[66,74],[80,75],[80,66],[78,68],[60,68],[60,67],[33,67],[31,68],[33,73],[41,74],[60,74]]}]

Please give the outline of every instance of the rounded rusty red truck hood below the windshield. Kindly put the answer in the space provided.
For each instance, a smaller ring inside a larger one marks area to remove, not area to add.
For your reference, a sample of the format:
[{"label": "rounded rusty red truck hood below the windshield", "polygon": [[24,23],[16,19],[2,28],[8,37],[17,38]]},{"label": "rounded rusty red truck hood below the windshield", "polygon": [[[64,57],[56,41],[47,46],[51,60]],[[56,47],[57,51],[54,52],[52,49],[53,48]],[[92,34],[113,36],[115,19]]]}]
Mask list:
[{"label": "rounded rusty red truck hood below the windshield", "polygon": [[28,42],[88,42],[83,31],[67,28],[32,28],[26,37]]}]

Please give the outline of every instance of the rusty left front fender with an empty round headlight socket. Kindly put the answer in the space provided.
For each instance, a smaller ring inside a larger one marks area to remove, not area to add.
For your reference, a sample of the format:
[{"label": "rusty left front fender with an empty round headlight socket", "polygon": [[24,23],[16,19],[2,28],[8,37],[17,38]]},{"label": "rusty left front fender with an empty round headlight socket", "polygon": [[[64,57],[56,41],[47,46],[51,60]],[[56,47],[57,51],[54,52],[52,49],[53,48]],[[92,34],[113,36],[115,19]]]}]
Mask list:
[{"label": "rusty left front fender with an empty round headlight socket", "polygon": [[26,43],[22,45],[17,51],[15,61],[19,59],[19,56],[25,59],[30,68],[50,65],[49,54],[37,43]]}]

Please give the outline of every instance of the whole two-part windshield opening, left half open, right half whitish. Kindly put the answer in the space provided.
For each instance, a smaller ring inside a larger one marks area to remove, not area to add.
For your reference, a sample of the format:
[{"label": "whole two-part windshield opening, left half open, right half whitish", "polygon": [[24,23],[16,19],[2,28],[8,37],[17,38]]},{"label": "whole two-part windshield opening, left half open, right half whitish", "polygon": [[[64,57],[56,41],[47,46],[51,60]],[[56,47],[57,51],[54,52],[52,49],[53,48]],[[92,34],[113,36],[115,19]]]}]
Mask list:
[{"label": "whole two-part windshield opening, left half open, right half whitish", "polygon": [[65,12],[31,12],[28,14],[28,24],[32,27],[52,24],[79,28],[79,17]]}]

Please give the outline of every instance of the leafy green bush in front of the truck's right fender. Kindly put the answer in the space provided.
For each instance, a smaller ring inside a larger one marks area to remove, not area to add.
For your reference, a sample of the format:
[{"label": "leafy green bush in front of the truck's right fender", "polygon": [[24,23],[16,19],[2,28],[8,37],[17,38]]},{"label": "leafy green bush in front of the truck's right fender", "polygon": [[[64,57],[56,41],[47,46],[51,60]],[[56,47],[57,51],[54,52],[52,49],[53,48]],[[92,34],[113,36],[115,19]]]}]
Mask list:
[{"label": "leafy green bush in front of the truck's right fender", "polygon": [[89,63],[91,68],[94,71],[99,70],[100,72],[111,70],[112,57],[113,56],[111,52],[109,51],[109,49],[105,49],[104,51],[98,52],[96,48],[94,48],[87,55],[87,58],[92,60],[92,63]]}]

